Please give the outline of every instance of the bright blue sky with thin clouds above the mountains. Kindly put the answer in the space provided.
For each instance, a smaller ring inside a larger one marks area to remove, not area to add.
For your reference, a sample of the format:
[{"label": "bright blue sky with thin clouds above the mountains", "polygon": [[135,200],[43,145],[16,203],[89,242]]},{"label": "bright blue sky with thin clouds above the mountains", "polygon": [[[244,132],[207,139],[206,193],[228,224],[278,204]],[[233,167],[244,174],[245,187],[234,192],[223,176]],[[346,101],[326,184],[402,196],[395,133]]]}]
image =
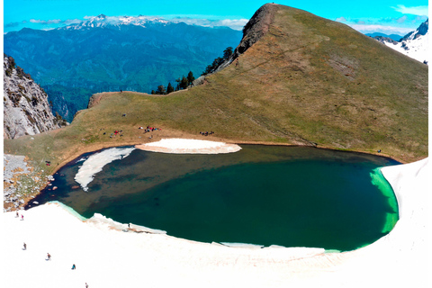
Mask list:
[{"label": "bright blue sky with thin clouds above the mountains", "polygon": [[[346,23],[362,32],[404,35],[428,18],[428,0],[281,0],[275,3]],[[4,0],[4,32],[23,27],[52,29],[98,14],[181,18],[187,23],[227,25],[240,30],[262,4],[266,1]]]}]

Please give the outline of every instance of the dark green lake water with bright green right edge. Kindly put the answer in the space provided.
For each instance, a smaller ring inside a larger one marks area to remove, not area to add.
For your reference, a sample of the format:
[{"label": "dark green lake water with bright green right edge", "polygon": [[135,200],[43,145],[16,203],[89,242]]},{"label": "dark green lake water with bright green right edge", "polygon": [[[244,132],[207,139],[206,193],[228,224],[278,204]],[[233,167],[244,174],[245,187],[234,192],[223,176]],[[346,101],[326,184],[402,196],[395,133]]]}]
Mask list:
[{"label": "dark green lake water with bright green right edge", "polygon": [[384,157],[253,145],[226,155],[134,150],[104,166],[86,193],[71,189],[80,164],[60,170],[55,194],[36,200],[202,242],[343,251],[373,243],[398,219],[375,170],[396,164]]}]

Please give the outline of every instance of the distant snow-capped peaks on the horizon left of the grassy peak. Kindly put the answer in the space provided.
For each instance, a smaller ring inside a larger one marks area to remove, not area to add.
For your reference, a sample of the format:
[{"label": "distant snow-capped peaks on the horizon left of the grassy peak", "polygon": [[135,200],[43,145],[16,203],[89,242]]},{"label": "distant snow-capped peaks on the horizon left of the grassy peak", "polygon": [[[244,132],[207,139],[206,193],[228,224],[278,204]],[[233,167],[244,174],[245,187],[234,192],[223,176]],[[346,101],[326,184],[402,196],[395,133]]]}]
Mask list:
[{"label": "distant snow-capped peaks on the horizon left of the grassy peak", "polygon": [[122,25],[135,25],[146,27],[148,24],[167,24],[168,21],[154,17],[154,16],[142,16],[139,15],[137,17],[132,16],[106,16],[104,14],[100,14],[98,16],[94,16],[89,18],[87,21],[82,23],[76,23],[72,25],[68,25],[66,27],[58,28],[58,30],[88,30],[94,27],[100,28],[118,28],[121,29]]}]

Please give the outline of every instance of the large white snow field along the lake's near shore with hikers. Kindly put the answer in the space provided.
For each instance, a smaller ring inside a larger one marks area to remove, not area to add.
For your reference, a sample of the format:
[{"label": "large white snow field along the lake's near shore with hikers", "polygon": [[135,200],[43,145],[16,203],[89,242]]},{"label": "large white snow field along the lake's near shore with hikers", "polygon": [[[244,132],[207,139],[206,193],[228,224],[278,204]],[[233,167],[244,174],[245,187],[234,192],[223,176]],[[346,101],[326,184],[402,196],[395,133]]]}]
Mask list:
[{"label": "large white snow field along the lake's near shore with hikers", "polygon": [[385,167],[383,175],[401,219],[385,237],[344,253],[125,233],[127,224],[79,220],[56,203],[20,211],[24,220],[5,212],[2,287],[431,287],[428,159]]}]

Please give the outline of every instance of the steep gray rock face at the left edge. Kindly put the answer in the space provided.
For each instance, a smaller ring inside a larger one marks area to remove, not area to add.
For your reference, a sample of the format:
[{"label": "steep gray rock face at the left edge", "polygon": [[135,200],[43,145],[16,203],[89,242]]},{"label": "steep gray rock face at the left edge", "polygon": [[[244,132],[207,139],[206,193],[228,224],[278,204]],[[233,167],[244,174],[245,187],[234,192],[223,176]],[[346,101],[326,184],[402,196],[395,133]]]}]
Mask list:
[{"label": "steep gray rock face at the left edge", "polygon": [[4,139],[16,139],[60,127],[48,95],[34,83],[14,58],[4,55]]}]

